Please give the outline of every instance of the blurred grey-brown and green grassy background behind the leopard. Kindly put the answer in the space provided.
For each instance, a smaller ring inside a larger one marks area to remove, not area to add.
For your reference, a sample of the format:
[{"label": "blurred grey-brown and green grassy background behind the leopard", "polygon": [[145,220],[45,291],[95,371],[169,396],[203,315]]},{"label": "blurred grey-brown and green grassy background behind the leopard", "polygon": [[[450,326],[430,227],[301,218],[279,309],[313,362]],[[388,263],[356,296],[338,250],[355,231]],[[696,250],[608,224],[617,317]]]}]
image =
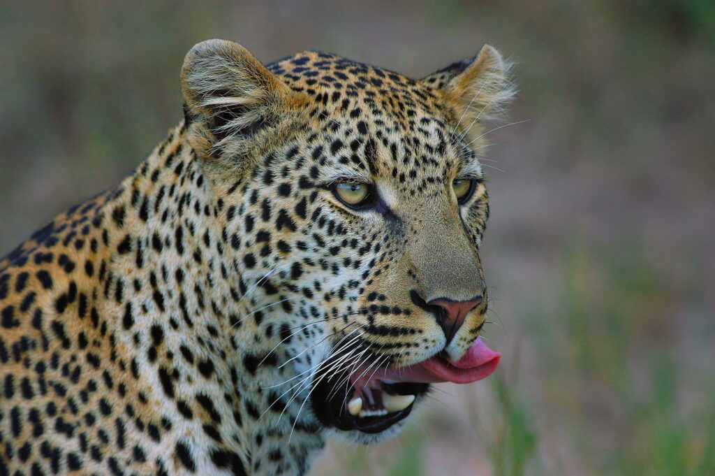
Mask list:
[{"label": "blurred grey-brown and green grassy background behind the leopard", "polygon": [[516,63],[528,122],[484,162],[503,365],[313,475],[715,475],[711,0],[2,2],[0,255],[132,171],[213,37],[411,77],[485,42]]}]

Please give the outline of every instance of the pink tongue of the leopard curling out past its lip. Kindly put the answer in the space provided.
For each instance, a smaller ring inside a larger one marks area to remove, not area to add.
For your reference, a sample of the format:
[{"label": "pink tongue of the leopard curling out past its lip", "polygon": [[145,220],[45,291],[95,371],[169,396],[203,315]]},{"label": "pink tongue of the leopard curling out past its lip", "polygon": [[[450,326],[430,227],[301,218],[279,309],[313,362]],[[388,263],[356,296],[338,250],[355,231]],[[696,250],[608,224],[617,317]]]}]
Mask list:
[{"label": "pink tongue of the leopard curling out past its lip", "polygon": [[501,354],[489,349],[482,339],[476,339],[466,354],[456,362],[441,357],[432,357],[419,364],[397,369],[384,369],[373,377],[398,382],[454,382],[470,384],[488,377],[499,364]]}]

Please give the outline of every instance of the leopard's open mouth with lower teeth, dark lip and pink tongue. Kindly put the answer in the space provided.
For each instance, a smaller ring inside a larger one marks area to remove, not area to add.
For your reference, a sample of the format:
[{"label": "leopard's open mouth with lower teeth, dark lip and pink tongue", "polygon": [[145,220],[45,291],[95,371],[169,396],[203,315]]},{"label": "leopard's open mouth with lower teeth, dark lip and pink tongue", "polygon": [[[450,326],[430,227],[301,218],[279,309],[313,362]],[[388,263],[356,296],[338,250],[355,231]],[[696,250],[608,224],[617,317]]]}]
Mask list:
[{"label": "leopard's open mouth with lower teeth, dark lip and pink tongue", "polygon": [[407,417],[415,401],[430,384],[468,384],[488,377],[501,354],[476,339],[456,362],[443,356],[404,367],[363,364],[341,365],[345,355],[335,354],[321,365],[315,377],[311,404],[317,418],[328,427],[379,433]]}]

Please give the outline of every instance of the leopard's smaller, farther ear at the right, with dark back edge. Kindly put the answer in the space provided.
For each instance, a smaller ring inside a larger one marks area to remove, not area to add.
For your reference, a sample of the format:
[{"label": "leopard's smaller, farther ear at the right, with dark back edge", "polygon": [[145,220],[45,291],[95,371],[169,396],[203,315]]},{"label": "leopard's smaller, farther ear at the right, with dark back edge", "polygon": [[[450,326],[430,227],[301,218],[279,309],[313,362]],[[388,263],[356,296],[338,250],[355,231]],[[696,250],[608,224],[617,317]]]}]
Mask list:
[{"label": "leopard's smaller, farther ear at the right, with dark back edge", "polygon": [[503,115],[516,93],[508,73],[501,54],[485,44],[476,57],[450,64],[420,82],[443,94],[460,130],[468,134],[475,125]]}]

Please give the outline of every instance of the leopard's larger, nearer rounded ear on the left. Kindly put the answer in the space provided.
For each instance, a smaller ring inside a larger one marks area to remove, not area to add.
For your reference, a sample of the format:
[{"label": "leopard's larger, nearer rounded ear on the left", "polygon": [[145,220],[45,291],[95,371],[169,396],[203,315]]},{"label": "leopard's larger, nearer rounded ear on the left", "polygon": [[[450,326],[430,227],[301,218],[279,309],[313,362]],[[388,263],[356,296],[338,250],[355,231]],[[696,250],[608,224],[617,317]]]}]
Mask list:
[{"label": "leopard's larger, nearer rounded ear on the left", "polygon": [[199,155],[235,158],[270,142],[300,98],[240,44],[209,39],[181,71],[189,142]]}]

